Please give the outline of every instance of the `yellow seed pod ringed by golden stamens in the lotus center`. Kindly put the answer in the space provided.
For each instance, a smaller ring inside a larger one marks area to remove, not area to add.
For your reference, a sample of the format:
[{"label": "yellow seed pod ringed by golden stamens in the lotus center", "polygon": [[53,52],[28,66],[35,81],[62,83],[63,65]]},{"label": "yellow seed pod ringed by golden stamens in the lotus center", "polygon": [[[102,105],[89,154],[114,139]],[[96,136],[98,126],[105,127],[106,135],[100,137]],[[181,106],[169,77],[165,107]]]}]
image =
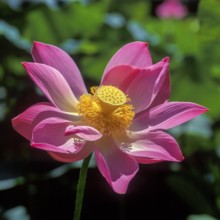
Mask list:
[{"label": "yellow seed pod ringed by golden stamens in the lotus center", "polygon": [[92,87],[91,93],[82,95],[78,104],[86,123],[106,135],[130,126],[135,113],[124,92],[114,86],[101,86]]}]

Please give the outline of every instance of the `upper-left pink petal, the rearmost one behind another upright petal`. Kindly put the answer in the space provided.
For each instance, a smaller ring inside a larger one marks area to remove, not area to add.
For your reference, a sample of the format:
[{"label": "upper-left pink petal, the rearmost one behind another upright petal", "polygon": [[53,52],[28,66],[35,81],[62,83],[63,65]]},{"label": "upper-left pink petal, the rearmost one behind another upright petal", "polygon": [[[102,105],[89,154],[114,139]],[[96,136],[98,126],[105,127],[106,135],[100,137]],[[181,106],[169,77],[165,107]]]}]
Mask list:
[{"label": "upper-left pink petal, the rearmost one behind another upright petal", "polygon": [[66,79],[77,99],[87,93],[77,65],[65,51],[53,45],[34,42],[32,56],[36,63],[47,64],[57,69]]}]

